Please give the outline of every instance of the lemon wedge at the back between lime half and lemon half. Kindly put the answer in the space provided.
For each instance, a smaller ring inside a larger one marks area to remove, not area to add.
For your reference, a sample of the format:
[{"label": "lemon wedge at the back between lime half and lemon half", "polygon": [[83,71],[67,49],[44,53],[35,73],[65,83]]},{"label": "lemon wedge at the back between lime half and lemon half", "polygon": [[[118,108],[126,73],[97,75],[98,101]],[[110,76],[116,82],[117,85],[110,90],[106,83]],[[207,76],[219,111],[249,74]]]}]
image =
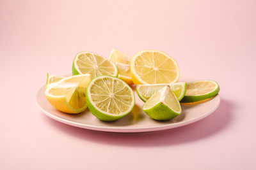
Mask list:
[{"label": "lemon wedge at the back between lime half and lemon half", "polygon": [[118,78],[121,78],[125,83],[131,85],[133,83],[130,70],[130,62],[132,58],[127,55],[127,53],[112,49],[109,59],[115,62],[116,67],[118,68]]}]

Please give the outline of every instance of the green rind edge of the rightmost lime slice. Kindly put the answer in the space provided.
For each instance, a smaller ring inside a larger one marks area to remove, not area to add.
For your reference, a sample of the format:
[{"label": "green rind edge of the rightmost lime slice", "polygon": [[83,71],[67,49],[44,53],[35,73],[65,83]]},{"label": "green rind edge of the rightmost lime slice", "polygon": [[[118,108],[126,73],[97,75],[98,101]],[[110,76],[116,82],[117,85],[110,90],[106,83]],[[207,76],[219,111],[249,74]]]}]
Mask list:
[{"label": "green rind edge of the rightmost lime slice", "polygon": [[[214,81],[214,82],[218,85],[218,83],[216,81]],[[180,101],[180,103],[193,103],[196,101],[202,101],[202,100],[217,96],[219,92],[220,92],[220,86],[218,85],[218,87],[215,90],[213,90],[212,92],[209,92],[208,94],[203,94],[200,96],[186,96],[186,94],[185,94],[185,96]]]}]

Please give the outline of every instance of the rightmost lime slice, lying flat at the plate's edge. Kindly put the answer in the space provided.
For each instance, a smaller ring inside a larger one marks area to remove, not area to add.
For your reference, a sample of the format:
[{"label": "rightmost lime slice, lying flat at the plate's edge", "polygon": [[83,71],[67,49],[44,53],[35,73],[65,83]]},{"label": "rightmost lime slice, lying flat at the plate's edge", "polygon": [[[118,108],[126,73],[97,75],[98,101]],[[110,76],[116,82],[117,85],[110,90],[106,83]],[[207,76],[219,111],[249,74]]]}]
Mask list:
[{"label": "rightmost lime slice, lying flat at the plate's edge", "polygon": [[216,81],[195,81],[188,83],[186,94],[181,103],[194,103],[214,97],[220,92],[220,86]]}]

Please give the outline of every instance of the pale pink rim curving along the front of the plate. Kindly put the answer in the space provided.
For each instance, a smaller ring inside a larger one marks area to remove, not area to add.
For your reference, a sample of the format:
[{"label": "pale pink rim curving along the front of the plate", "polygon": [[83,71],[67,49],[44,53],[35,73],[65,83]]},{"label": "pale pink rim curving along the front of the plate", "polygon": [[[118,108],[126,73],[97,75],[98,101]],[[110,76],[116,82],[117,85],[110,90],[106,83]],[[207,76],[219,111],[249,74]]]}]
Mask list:
[{"label": "pale pink rim curving along the front of the plate", "polygon": [[129,132],[153,132],[153,131],[163,131],[166,129],[173,129],[176,127],[181,127],[184,125],[189,125],[189,124],[193,124],[199,120],[202,120],[205,117],[208,117],[209,115],[211,115],[219,106],[220,106],[220,102],[221,102],[221,98],[220,95],[218,94],[215,97],[219,97],[218,103],[216,104],[216,106],[209,112],[207,112],[206,114],[200,116],[200,117],[196,117],[193,118],[191,120],[186,120],[184,122],[177,122],[174,124],[164,124],[164,125],[157,125],[154,127],[102,127],[99,125],[88,125],[88,124],[81,124],[79,122],[72,122],[70,120],[67,120],[65,118],[61,118],[58,117],[56,115],[52,115],[51,113],[49,113],[48,111],[45,111],[44,108],[42,108],[42,106],[40,106],[40,104],[38,103],[37,97],[38,94],[40,93],[40,90],[42,90],[42,88],[44,88],[45,85],[43,85],[42,87],[40,87],[37,91],[36,91],[36,96],[35,96],[35,103],[36,106],[39,108],[40,111],[42,111],[47,117],[50,117],[58,122],[61,122],[63,124],[67,124],[67,125],[72,125],[75,127],[80,127],[83,129],[90,129],[90,130],[94,130],[94,131],[104,131],[104,132],[122,132],[122,133],[129,133]]}]

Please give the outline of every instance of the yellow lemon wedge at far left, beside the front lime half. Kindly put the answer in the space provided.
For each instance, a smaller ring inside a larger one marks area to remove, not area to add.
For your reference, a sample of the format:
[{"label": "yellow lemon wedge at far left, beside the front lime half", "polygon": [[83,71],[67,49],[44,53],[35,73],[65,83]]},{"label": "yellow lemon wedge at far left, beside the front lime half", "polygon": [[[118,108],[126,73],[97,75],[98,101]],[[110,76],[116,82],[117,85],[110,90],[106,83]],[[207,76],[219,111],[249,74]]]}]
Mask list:
[{"label": "yellow lemon wedge at far left, beside the front lime half", "polygon": [[91,80],[90,74],[63,78],[50,83],[45,89],[49,103],[65,113],[80,113],[86,110],[86,87]]}]

